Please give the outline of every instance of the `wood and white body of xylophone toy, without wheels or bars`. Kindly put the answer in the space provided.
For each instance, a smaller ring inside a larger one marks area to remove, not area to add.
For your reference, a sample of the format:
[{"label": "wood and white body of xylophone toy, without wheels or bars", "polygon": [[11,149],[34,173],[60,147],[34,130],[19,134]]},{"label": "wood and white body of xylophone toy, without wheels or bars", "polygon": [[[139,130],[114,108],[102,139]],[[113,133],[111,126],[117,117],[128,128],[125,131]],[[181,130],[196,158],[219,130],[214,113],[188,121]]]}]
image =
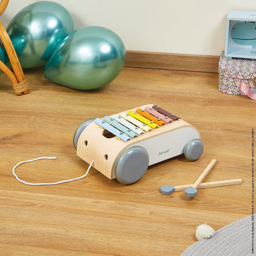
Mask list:
[{"label": "wood and white body of xylophone toy, without wheels or bars", "polygon": [[[140,106],[141,109],[153,105]],[[136,111],[138,108],[133,109]],[[128,111],[125,111],[127,113]],[[119,113],[121,114],[121,113]],[[108,134],[105,129],[91,122],[79,136],[77,154],[106,177],[116,178],[114,164],[124,150],[141,146],[148,152],[149,166],[184,153],[185,146],[194,139],[200,139],[198,130],[182,119],[169,122],[126,142]]]}]

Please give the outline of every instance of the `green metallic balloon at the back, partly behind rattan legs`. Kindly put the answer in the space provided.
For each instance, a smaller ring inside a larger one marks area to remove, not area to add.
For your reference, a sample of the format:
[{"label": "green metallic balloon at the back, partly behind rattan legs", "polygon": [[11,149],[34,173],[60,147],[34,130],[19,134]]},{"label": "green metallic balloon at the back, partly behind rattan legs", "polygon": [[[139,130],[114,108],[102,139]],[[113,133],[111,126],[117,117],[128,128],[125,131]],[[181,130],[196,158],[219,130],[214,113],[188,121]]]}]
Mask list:
[{"label": "green metallic balloon at the back, partly behind rattan legs", "polygon": [[73,31],[74,24],[68,11],[50,1],[26,6],[7,26],[22,68],[45,65],[58,44]]}]

